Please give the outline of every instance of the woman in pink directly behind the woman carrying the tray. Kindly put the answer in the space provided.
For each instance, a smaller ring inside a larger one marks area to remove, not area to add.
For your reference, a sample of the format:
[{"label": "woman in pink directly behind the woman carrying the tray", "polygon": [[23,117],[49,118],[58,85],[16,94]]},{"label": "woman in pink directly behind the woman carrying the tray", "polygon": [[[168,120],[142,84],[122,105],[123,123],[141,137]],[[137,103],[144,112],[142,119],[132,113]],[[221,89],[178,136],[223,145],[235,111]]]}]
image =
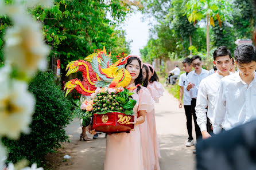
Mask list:
[{"label": "woman in pink directly behind the woman carrying the tray", "polygon": [[[144,77],[143,86],[149,89],[150,94],[152,95],[155,102],[159,102],[159,97],[161,97],[164,93],[164,88],[158,82],[158,76],[156,72],[154,72],[153,66],[150,64],[144,64],[145,66],[142,69],[142,75]],[[148,81],[148,84],[146,83]],[[155,118],[155,110],[153,109],[152,112],[147,113],[146,121],[148,123],[148,130],[151,137],[151,142],[153,144],[154,150],[154,169],[160,170],[159,165],[159,158],[160,155],[160,148],[158,144],[157,138],[157,131],[156,131],[156,118]]]}]

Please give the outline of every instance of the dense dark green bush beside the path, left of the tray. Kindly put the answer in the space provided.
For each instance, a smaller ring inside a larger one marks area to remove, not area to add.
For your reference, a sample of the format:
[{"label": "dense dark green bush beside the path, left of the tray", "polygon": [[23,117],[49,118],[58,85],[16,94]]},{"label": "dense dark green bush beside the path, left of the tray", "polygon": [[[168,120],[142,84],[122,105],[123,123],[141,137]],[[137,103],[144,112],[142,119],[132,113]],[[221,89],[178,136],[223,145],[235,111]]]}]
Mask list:
[{"label": "dense dark green bush beside the path, left of the tray", "polygon": [[41,164],[46,153],[56,151],[61,142],[67,141],[64,128],[71,121],[71,102],[54,82],[53,73],[38,72],[30,82],[29,90],[36,98],[36,109],[30,124],[31,133],[21,134],[19,140],[2,139],[9,148],[8,161],[16,163],[27,159]]}]

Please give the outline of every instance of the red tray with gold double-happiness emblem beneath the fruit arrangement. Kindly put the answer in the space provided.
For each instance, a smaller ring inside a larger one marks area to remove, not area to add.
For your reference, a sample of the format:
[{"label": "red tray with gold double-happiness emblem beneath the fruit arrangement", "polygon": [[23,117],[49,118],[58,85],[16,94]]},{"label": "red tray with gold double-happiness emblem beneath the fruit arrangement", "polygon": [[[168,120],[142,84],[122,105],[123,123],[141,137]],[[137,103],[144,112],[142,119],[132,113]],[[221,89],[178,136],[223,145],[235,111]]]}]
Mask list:
[{"label": "red tray with gold double-happiness emblem beneath the fruit arrangement", "polygon": [[97,132],[104,132],[108,135],[111,133],[126,132],[130,133],[134,128],[130,122],[134,121],[134,116],[124,113],[112,112],[106,114],[94,114],[92,129]]}]

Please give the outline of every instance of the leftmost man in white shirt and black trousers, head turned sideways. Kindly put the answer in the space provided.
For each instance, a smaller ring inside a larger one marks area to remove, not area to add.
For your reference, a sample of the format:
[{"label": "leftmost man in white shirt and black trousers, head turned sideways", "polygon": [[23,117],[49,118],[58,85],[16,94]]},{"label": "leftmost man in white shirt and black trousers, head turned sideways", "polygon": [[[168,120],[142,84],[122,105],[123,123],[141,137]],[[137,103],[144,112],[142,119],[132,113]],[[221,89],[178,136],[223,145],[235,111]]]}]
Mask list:
[{"label": "leftmost man in white shirt and black trousers, head turned sideways", "polygon": [[182,62],[184,71],[186,73],[183,73],[180,75],[179,79],[179,86],[180,86],[180,104],[179,107],[182,108],[182,98],[183,98],[183,105],[185,109],[185,114],[187,118],[187,130],[188,130],[188,141],[186,143],[186,147],[191,147],[194,145],[193,143],[193,136],[192,136],[192,112],[191,112],[191,97],[189,96],[189,92],[187,90],[184,91],[184,86],[188,85],[188,78],[187,75],[189,72],[192,71],[192,64],[191,64],[191,58],[185,58],[185,60]]}]

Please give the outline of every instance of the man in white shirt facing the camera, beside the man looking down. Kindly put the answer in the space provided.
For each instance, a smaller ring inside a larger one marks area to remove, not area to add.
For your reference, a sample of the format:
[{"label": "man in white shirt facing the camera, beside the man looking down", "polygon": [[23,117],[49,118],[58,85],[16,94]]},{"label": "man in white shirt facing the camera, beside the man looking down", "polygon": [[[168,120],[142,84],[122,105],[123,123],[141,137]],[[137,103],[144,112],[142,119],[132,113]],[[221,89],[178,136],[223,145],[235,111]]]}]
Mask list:
[{"label": "man in white shirt facing the camera, beside the man looking down", "polygon": [[[213,62],[217,71],[200,82],[196,100],[196,121],[200,127],[203,139],[211,137],[211,124],[214,118],[214,108],[216,98],[218,97],[220,80],[230,74],[229,70],[232,65],[230,50],[226,46],[220,46],[214,51]],[[208,109],[206,109],[207,106]]]}]

